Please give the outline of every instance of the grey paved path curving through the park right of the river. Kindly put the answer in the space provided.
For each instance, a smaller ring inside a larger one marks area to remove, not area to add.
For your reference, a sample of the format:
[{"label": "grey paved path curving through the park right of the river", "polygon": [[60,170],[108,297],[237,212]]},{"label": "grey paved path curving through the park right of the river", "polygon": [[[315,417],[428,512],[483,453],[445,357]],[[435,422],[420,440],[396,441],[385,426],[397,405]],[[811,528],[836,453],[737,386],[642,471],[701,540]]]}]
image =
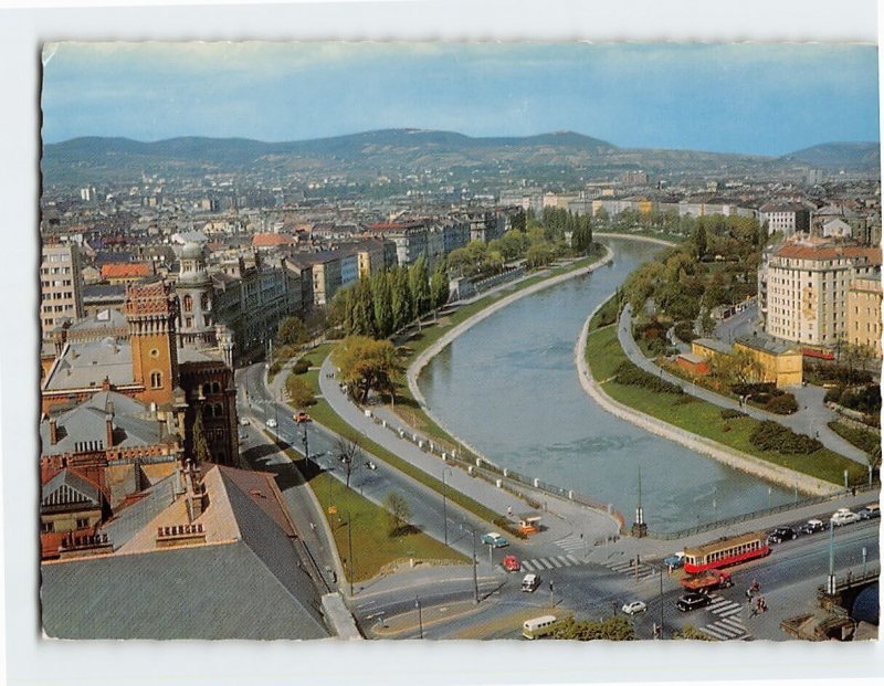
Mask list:
[{"label": "grey paved path curving through the park right of the river", "polygon": [[772,412],[766,412],[765,410],[759,410],[758,408],[754,408],[749,404],[740,407],[739,402],[736,400],[725,398],[724,395],[719,395],[714,391],[698,387],[694,383],[690,383],[684,379],[676,377],[664,369],[661,369],[656,363],[654,363],[653,360],[644,357],[644,353],[641,351],[639,345],[635,342],[635,339],[632,336],[631,305],[623,307],[623,312],[620,313],[618,339],[620,340],[620,346],[623,348],[623,352],[625,352],[630,361],[632,361],[636,367],[640,367],[644,371],[652,373],[655,377],[660,377],[670,383],[681,386],[685,393],[690,393],[695,398],[711,402],[719,408],[739,410],[757,420],[770,420],[778,422],[798,433],[803,433],[810,436],[815,435],[815,437],[829,450],[839,453],[840,455],[844,455],[845,457],[852,460],[853,462],[857,462],[863,466],[867,464],[865,460],[865,453],[863,451],[848,443],[834,431],[829,429],[829,422],[836,419],[836,414],[825,407],[825,403],[823,402],[825,391],[823,389],[811,386],[790,388],[789,390],[794,394],[799,407],[798,412],[794,414],[774,414]]}]

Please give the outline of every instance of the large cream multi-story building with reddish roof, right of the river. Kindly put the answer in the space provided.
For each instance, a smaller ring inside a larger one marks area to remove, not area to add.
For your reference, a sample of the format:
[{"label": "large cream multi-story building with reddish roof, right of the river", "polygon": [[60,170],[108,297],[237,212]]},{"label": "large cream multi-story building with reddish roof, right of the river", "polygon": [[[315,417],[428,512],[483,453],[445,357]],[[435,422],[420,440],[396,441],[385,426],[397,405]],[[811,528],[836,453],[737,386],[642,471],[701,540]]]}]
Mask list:
[{"label": "large cream multi-story building with reddish roof, right of the river", "polygon": [[802,238],[766,251],[758,271],[765,330],[815,346],[848,337],[848,292],[881,267],[881,249]]}]

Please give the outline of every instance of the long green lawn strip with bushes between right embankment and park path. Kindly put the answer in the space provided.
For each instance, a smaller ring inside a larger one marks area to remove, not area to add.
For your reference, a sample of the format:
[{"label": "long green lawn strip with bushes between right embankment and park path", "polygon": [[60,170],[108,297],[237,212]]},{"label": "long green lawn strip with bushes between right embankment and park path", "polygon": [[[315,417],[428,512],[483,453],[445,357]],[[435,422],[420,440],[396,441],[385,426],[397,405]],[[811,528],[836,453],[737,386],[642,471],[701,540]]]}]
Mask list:
[{"label": "long green lawn strip with bushes between right embankment and park path", "polygon": [[634,410],[766,462],[833,484],[843,484],[844,469],[848,469],[852,482],[863,478],[865,472],[862,465],[828,448],[810,455],[785,455],[759,451],[749,441],[749,436],[759,424],[756,419],[745,416],[725,421],[722,419],[722,408],[705,400],[690,395],[659,393],[636,386],[621,386],[609,381],[617,368],[627,361],[627,356],[617,339],[615,327],[600,329],[589,336],[587,361],[592,376],[601,380],[604,392]]}]

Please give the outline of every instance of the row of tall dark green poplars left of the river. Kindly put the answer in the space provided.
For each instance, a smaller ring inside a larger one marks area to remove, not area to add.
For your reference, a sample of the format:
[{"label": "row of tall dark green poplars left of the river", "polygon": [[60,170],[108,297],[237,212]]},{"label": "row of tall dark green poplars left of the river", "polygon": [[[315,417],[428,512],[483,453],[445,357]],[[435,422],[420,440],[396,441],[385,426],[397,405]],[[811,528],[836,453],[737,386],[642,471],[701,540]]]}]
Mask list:
[{"label": "row of tall dark green poplars left of the river", "polygon": [[444,260],[430,274],[423,254],[409,267],[397,266],[360,276],[335,294],[329,319],[345,336],[388,338],[449,299]]}]

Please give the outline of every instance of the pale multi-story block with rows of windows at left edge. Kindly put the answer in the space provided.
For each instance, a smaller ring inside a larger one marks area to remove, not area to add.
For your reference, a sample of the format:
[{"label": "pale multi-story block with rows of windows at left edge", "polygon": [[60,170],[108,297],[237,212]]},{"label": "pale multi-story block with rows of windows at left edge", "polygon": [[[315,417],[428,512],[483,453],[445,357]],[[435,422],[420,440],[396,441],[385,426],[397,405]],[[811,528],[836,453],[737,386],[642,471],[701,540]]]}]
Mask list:
[{"label": "pale multi-story block with rows of windows at left edge", "polygon": [[44,244],[40,264],[40,325],[43,340],[65,319],[83,317],[80,251],[75,244]]}]

